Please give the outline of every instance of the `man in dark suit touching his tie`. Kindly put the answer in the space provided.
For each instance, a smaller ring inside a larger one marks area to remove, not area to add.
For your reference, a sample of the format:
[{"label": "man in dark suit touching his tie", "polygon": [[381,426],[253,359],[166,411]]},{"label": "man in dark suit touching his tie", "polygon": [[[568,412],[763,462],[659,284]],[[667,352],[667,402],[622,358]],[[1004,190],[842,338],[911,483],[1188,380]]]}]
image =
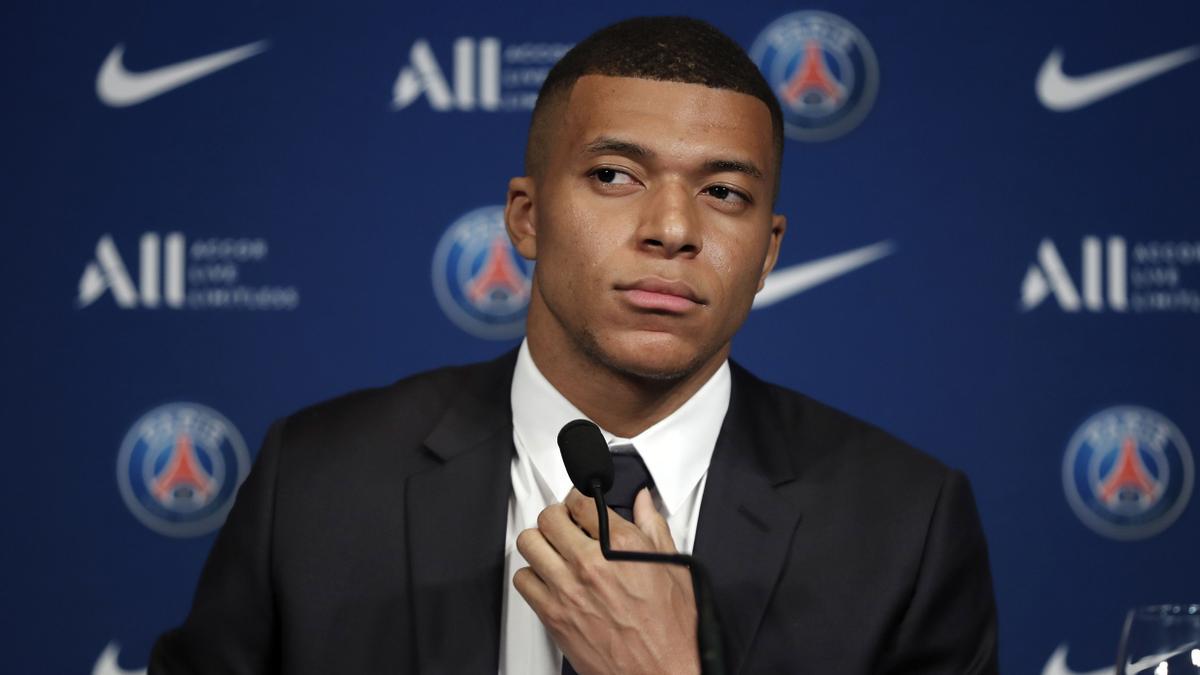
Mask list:
[{"label": "man in dark suit touching his tie", "polygon": [[730,671],[996,673],[966,479],[728,362],[781,156],[708,24],[576,46],[509,184],[521,350],[276,423],[151,673],[698,673],[686,574],[600,556],[554,444],[577,417],[619,464],[614,546],[708,566]]}]

